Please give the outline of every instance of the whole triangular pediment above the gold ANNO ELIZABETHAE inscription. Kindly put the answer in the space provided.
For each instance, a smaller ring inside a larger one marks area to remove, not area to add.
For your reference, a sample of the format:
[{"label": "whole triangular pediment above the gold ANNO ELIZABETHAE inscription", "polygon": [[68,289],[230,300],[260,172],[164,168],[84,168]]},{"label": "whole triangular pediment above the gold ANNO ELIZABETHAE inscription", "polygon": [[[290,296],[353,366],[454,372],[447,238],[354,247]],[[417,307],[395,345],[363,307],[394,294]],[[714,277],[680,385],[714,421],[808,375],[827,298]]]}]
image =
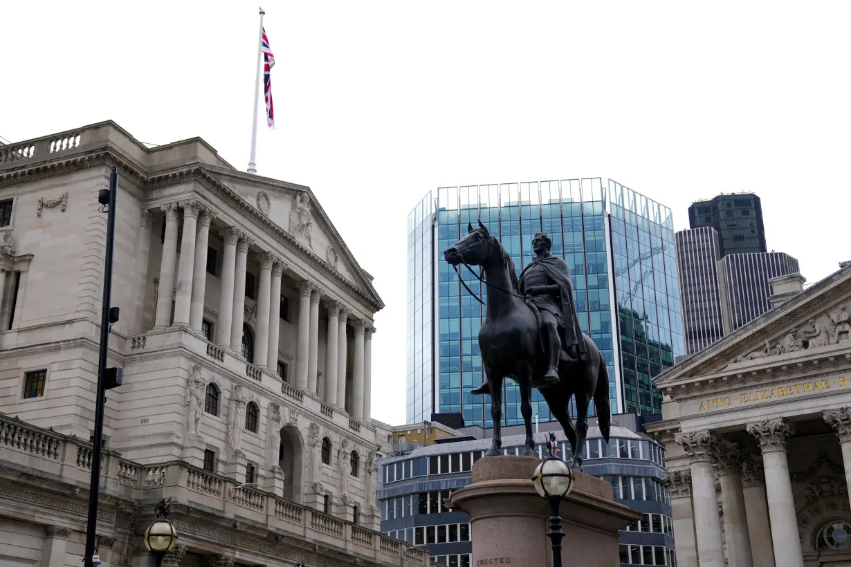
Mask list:
[{"label": "whole triangular pediment above the gold ANNO ELIZABETHAE inscription", "polygon": [[657,388],[721,371],[851,349],[851,266],[757,317],[654,379]]}]

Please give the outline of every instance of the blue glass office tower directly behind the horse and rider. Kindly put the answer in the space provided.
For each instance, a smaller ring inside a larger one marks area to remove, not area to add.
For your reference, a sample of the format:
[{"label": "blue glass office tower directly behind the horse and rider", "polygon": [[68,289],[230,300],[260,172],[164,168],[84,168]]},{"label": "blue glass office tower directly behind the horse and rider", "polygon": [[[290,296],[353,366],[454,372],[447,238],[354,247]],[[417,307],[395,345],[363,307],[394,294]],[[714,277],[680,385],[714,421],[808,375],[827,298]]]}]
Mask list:
[{"label": "blue glass office tower directly behind the horse and rider", "polygon": [[[660,413],[651,378],[683,354],[671,210],[612,180],[565,179],[440,188],[409,214],[408,422],[459,412],[467,425],[493,425],[488,397],[470,394],[484,379],[477,336],[486,311],[443,261],[478,218],[518,275],[534,258],[534,233],[550,235],[571,271],[580,326],[608,363],[612,411]],[[460,271],[486,299],[476,277]],[[513,381],[504,400],[505,424],[522,422]],[[533,406],[540,421],[552,419],[537,391]]]}]

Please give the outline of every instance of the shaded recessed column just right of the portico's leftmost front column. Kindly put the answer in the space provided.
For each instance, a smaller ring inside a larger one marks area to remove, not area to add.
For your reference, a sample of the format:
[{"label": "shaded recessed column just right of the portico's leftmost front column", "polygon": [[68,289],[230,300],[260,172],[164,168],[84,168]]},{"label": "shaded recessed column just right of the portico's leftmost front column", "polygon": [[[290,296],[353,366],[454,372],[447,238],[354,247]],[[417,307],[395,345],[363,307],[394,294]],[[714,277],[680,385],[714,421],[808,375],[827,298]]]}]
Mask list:
[{"label": "shaded recessed column just right of the portico's leftmost front column", "polygon": [[719,449],[715,464],[721,476],[721,505],[724,512],[728,564],[730,567],[753,567],[745,493],[742,491],[739,447],[722,445]]}]

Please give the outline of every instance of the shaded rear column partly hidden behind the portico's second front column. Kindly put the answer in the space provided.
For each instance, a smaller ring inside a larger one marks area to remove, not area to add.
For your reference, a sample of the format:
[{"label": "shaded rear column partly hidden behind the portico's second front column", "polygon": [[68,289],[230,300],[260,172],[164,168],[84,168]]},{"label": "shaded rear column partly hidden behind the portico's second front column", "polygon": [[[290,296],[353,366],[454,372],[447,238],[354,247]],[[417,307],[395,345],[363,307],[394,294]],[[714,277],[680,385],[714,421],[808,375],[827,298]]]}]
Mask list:
[{"label": "shaded rear column partly hidden behind the portico's second front column", "polygon": [[741,477],[754,567],[774,567],[774,544],[771,542],[762,459],[750,456],[742,459]]}]

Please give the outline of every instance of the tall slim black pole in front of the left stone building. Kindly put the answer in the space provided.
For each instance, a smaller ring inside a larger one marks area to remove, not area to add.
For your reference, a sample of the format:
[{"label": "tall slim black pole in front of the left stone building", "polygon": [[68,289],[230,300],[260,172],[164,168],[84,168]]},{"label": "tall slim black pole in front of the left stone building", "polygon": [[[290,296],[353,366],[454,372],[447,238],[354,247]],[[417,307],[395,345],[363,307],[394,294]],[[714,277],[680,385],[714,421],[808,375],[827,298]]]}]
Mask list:
[{"label": "tall slim black pole in front of the left stone building", "polygon": [[[106,361],[109,355],[110,300],[112,292],[112,244],[115,241],[115,200],[118,192],[118,168],[112,167],[109,180],[109,211],[106,215],[106,261],[104,262],[104,297],[100,314],[100,354],[98,356],[98,385],[94,397],[94,441],[92,445],[92,478],[89,482],[89,522],[86,526],[84,567],[94,567],[94,536],[98,524],[98,496],[100,496],[100,445],[104,434],[104,402],[106,389]],[[104,204],[100,197],[98,201]]]}]

